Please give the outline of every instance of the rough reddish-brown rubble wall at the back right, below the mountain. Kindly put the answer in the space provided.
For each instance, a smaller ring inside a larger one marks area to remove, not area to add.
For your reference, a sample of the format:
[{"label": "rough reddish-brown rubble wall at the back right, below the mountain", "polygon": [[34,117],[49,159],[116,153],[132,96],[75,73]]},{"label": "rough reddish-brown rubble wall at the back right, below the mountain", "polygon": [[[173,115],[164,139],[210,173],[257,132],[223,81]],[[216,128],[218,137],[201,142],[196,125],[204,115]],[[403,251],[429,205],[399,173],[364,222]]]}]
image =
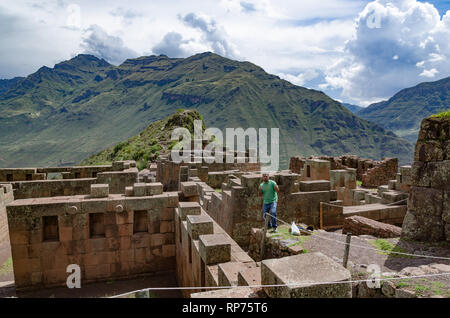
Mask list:
[{"label": "rough reddish-brown rubble wall at the back right, below the mountain", "polygon": [[[346,168],[356,169],[356,179],[363,182],[365,187],[377,187],[387,184],[389,180],[395,179],[398,171],[397,158],[385,158],[381,161],[363,159],[358,156],[313,156],[309,159],[327,160],[330,162],[331,170],[342,170]],[[289,169],[294,173],[301,173],[304,169],[307,158],[291,157]]]}]

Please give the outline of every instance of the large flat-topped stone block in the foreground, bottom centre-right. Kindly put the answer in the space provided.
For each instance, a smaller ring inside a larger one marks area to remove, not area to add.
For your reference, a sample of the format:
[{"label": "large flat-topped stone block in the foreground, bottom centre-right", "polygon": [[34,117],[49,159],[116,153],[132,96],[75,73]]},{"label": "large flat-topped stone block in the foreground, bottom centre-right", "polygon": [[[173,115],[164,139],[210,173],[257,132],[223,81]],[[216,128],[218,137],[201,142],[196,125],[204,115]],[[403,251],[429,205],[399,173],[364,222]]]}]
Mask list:
[{"label": "large flat-topped stone block in the foreground, bottom centre-right", "polygon": [[[261,262],[262,285],[287,285],[265,287],[273,298],[351,298],[350,279],[347,269],[320,252]],[[314,285],[323,282],[330,284]]]}]

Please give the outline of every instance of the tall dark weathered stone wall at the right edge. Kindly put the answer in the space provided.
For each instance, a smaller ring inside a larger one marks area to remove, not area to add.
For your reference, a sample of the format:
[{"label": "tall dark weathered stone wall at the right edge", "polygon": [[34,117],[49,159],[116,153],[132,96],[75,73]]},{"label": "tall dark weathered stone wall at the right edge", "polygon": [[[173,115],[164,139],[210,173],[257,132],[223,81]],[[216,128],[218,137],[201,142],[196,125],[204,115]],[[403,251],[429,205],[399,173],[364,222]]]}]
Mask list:
[{"label": "tall dark weathered stone wall at the right edge", "polygon": [[450,241],[450,119],[422,121],[402,237]]}]

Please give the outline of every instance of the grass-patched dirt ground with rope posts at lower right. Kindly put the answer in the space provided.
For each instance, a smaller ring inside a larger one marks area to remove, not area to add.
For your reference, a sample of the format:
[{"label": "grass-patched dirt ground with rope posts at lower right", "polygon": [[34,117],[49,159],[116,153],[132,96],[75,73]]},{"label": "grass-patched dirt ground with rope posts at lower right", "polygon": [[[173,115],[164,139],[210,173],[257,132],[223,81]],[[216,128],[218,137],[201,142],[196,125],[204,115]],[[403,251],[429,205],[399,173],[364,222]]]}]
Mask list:
[{"label": "grass-patched dirt ground with rope posts at lower right", "polygon": [[[307,252],[322,252],[342,263],[346,235],[340,233],[329,233],[325,231],[315,231],[310,239],[303,243],[303,248]],[[340,243],[339,243],[340,242]],[[353,236],[349,254],[348,267],[354,278],[365,279],[367,277],[367,267],[370,264],[380,266],[382,273],[387,277],[396,276],[421,276],[430,274],[450,273],[449,260],[411,257],[394,253],[383,253],[373,250],[374,248],[393,250],[402,253],[416,255],[435,256],[450,258],[449,244],[430,244],[418,242],[405,242],[398,238],[377,239],[371,236]],[[437,270],[434,266],[437,265]],[[390,274],[389,274],[390,273]],[[392,282],[397,287],[408,289],[419,297],[449,297],[450,298],[450,275],[429,276],[421,278],[396,279]]]}]

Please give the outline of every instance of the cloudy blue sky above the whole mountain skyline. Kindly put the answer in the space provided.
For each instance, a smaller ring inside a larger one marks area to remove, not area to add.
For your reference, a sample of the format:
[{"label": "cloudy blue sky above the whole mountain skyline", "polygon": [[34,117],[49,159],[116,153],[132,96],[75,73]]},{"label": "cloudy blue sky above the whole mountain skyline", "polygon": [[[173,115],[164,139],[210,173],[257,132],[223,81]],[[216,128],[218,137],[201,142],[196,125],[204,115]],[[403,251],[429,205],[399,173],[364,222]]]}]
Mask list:
[{"label": "cloudy blue sky above the whole mountain skyline", "polygon": [[367,106],[450,75],[450,0],[5,0],[0,78],[91,53],[213,51]]}]

